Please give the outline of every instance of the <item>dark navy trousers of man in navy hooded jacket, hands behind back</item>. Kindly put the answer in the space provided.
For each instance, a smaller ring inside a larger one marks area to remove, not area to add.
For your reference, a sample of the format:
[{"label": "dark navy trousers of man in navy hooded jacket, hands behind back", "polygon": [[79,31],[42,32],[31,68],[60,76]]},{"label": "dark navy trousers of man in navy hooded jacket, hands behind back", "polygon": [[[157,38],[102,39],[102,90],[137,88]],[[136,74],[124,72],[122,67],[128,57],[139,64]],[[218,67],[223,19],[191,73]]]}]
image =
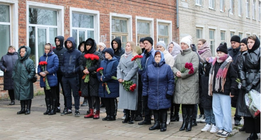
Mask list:
[{"label": "dark navy trousers of man in navy hooded jacket, hands behind back", "polygon": [[67,108],[71,110],[72,108],[72,98],[71,93],[74,98],[74,107],[75,109],[80,109],[80,96],[79,96],[79,77],[62,77],[62,84],[64,89],[64,94],[66,96]]}]

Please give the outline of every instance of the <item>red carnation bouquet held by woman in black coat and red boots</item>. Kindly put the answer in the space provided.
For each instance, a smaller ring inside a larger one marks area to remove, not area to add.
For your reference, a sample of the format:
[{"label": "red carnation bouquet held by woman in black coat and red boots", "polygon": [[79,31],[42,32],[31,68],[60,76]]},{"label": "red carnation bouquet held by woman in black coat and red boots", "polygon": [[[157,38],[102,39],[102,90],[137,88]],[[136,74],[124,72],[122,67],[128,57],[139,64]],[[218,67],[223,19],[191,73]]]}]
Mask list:
[{"label": "red carnation bouquet held by woman in black coat and red boots", "polygon": [[[93,66],[93,64],[99,60],[99,56],[95,54],[85,54],[84,57],[86,58],[86,67],[90,68]],[[90,81],[89,74],[85,74],[82,79],[84,79],[85,83],[88,83]]]}]

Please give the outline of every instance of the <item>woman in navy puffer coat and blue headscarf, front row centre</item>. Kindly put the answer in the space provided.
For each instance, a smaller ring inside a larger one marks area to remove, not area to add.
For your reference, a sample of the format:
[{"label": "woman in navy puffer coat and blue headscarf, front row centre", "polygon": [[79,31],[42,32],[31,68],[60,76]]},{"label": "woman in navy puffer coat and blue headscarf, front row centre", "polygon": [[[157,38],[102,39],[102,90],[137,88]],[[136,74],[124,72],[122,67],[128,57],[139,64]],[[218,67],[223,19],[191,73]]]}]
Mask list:
[{"label": "woman in navy puffer coat and blue headscarf, front row centre", "polygon": [[149,130],[167,130],[167,109],[171,107],[173,91],[173,72],[165,63],[163,53],[156,51],[153,64],[146,68],[142,93],[148,96],[148,107],[153,110],[155,124]]}]

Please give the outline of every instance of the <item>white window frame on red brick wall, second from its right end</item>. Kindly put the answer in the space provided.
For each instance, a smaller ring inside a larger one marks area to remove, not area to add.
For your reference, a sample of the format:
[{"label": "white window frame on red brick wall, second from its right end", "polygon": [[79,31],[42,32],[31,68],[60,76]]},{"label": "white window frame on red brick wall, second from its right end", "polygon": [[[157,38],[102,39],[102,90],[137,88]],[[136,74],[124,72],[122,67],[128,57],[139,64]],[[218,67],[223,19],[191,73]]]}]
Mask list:
[{"label": "white window frame on red brick wall, second from its right end", "polygon": [[139,46],[140,41],[138,38],[138,34],[137,34],[137,22],[149,22],[149,32],[150,32],[150,37],[154,38],[154,19],[153,18],[149,18],[149,17],[142,17],[142,16],[136,16],[135,17],[135,27],[136,27],[136,45]]}]

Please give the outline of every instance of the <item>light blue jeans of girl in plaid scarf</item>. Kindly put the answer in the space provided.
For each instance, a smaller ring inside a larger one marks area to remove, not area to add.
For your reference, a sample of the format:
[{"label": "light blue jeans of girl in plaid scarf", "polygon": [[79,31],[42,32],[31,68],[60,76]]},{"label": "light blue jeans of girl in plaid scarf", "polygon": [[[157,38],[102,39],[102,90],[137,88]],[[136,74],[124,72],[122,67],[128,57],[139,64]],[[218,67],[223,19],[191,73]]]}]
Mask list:
[{"label": "light blue jeans of girl in plaid scarf", "polygon": [[231,97],[228,95],[213,93],[212,108],[218,130],[224,129],[230,133],[232,131]]}]

